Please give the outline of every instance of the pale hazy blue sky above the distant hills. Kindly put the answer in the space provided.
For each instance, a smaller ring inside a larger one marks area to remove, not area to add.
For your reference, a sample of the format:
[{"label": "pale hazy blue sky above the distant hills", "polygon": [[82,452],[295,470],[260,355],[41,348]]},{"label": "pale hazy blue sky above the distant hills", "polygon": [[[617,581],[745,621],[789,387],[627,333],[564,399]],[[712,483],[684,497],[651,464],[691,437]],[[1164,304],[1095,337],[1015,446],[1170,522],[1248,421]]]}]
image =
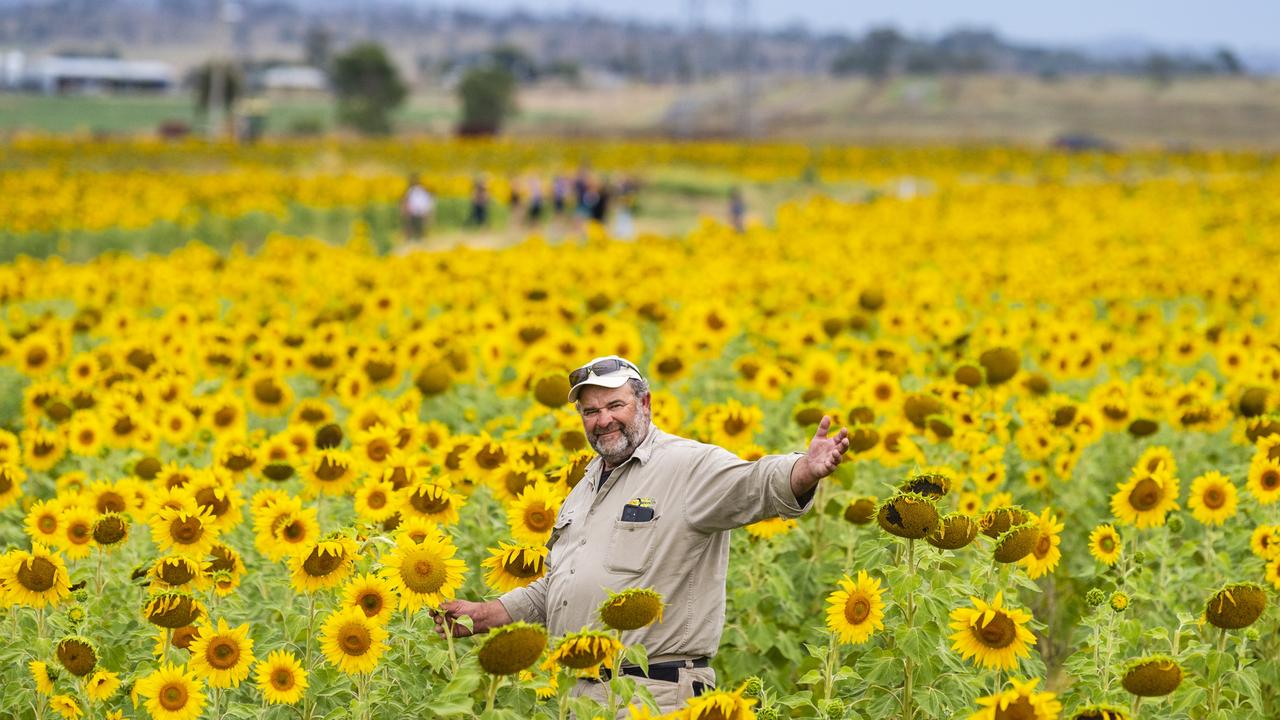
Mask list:
[{"label": "pale hazy blue sky above the distant hills", "polygon": [[[728,23],[737,0],[700,0],[714,24]],[[468,6],[593,13],[684,23],[689,0],[471,0]],[[909,33],[934,35],[957,24],[992,27],[1012,40],[1092,44],[1142,38],[1169,47],[1230,45],[1280,49],[1280,0],[751,0],[756,24],[801,20],[812,29],[860,32],[892,23]]]}]

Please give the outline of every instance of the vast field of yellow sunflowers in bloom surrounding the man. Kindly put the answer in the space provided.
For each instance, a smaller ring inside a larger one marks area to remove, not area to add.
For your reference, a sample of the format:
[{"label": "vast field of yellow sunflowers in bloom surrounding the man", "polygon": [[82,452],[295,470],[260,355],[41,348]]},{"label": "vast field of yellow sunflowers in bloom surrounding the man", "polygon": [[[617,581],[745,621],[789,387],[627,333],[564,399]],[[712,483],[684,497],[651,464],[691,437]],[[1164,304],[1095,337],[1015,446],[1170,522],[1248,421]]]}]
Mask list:
[{"label": "vast field of yellow sunflowers in bloom surrounding the man", "polygon": [[[580,163],[813,192],[742,233],[375,241],[408,168],[461,200]],[[806,515],[735,530],[680,717],[1280,717],[1274,155],[26,138],[0,170],[0,716],[657,716],[573,693],[645,665],[649,588],[566,637],[430,614],[544,574],[594,456],[567,373],[618,354],[742,457],[851,433]],[[338,242],[289,232],[316,209]]]}]

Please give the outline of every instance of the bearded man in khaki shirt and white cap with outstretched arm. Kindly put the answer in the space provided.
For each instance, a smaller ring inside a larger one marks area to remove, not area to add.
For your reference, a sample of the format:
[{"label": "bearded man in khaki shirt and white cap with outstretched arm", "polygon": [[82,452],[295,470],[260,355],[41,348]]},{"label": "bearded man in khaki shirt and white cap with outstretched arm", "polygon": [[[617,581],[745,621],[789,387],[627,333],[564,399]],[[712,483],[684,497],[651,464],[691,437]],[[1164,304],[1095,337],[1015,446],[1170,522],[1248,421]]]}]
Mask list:
[{"label": "bearded man in khaki shirt and white cap with outstretched arm", "polygon": [[[595,612],[607,591],[653,588],[667,603],[663,621],[622,634],[649,653],[649,676],[639,667],[623,673],[637,675],[663,712],[678,710],[716,684],[708,662],[724,625],[727,530],[803,515],[818,480],[849,450],[849,432],[827,437],[831,420],[823,418],[806,454],[751,462],[654,427],[649,386],[622,357],[598,357],[571,373],[570,383],[570,401],[599,456],[561,506],[547,574],[498,600],[444,603],[436,630],[466,615],[476,633],[526,620],[558,637],[599,628]],[[456,637],[471,634],[452,628]],[[605,697],[590,680],[575,693]]]}]

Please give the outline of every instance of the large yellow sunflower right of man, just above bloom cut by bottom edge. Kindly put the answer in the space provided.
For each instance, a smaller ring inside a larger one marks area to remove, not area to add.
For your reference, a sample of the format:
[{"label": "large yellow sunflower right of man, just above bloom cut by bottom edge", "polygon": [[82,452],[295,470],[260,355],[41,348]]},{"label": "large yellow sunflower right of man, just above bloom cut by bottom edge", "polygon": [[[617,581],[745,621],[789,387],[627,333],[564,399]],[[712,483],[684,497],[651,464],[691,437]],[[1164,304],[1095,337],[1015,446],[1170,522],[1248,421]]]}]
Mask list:
[{"label": "large yellow sunflower right of man, just above bloom cut by bottom edge", "polygon": [[1030,612],[1004,607],[1004,593],[991,603],[970,597],[973,607],[951,611],[951,650],[980,667],[1011,670],[1019,657],[1030,655],[1036,635],[1027,629]]}]

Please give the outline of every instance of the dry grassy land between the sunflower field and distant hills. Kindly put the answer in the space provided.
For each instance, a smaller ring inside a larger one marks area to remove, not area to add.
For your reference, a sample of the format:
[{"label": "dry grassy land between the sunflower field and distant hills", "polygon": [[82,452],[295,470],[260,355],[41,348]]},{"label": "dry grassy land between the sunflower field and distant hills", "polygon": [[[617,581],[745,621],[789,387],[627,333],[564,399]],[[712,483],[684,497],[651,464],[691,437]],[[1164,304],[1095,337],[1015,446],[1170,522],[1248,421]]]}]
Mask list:
[{"label": "dry grassy land between the sunflower field and distant hills", "polygon": [[[698,136],[739,133],[737,78],[694,86],[628,85],[575,90],[524,88],[516,136]],[[419,90],[394,114],[397,129],[449,135],[457,100]],[[751,88],[755,137],[817,142],[1015,142],[1042,145],[1085,133],[1120,146],[1277,147],[1280,78],[1139,77],[1041,79],[1014,76],[758,78]],[[0,133],[17,129],[147,133],[170,119],[200,131],[189,96],[45,97],[0,95]],[[275,99],[268,132],[334,129],[326,99]]]}]

